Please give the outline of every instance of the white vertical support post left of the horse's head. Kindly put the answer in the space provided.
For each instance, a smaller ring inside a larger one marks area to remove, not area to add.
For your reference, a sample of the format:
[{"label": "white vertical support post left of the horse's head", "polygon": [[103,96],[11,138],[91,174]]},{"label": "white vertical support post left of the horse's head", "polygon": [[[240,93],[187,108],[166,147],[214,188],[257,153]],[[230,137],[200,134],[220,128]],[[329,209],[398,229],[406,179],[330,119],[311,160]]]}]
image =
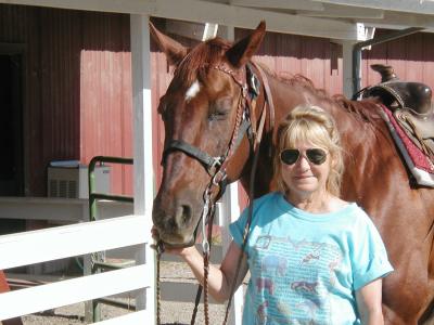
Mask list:
[{"label": "white vertical support post left of the horse's head", "polygon": [[[105,1],[104,1],[105,2]],[[120,1],[127,4],[128,1]],[[137,3],[137,2],[136,2]],[[151,50],[149,16],[130,16],[132,118],[135,157],[135,214],[142,216],[145,225],[142,235],[152,243],[152,203],[154,199],[154,171],[152,166],[152,103],[151,103]],[[145,263],[151,287],[136,298],[138,310],[146,309],[148,321],[155,324],[155,251],[150,245],[139,250],[138,263]]]}]

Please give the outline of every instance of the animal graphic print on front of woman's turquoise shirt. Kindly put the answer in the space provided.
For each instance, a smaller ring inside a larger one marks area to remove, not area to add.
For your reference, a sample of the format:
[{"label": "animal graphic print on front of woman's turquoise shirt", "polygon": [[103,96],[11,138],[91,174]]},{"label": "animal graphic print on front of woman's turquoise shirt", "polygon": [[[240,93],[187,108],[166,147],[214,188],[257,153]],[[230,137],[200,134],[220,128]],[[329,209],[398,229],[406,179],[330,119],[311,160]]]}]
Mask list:
[{"label": "animal graphic print on front of woman's turquoise shirt", "polygon": [[260,236],[253,261],[257,324],[331,323],[329,292],[342,261],[337,244]]}]

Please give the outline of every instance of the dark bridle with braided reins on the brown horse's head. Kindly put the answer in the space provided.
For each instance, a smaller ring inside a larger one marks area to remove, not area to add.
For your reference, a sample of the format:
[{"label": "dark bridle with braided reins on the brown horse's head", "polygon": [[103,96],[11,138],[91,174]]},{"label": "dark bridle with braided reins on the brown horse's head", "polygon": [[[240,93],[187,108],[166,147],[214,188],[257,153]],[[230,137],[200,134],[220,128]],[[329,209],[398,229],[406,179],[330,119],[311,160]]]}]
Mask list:
[{"label": "dark bridle with braided reins on the brown horse's head", "polygon": [[[256,99],[259,95],[259,88],[260,88],[260,81],[257,78],[257,76],[253,73],[252,65],[256,68],[256,70],[261,75],[263,79],[263,86],[265,89],[264,93],[264,107],[260,112],[260,121],[259,126],[256,125]],[[226,185],[228,183],[228,176],[227,176],[227,166],[230,161],[230,158],[233,156],[233,154],[237,152],[237,148],[241,144],[242,139],[244,138],[245,134],[247,134],[250,147],[251,147],[251,153],[255,153],[255,161],[257,161],[257,156],[258,156],[258,148],[263,135],[263,130],[264,130],[264,125],[265,125],[265,119],[267,115],[267,109],[266,109],[266,103],[268,103],[269,106],[269,125],[270,125],[270,130],[273,129],[273,118],[275,118],[275,108],[272,104],[272,99],[271,99],[271,93],[269,90],[268,81],[267,78],[261,70],[261,68],[258,65],[255,65],[253,63],[250,63],[239,70],[234,72],[231,69],[227,64],[222,63],[219,65],[214,65],[212,68],[217,69],[221,73],[227,74],[230,76],[233,81],[240,87],[241,92],[240,96],[238,100],[238,106],[237,106],[237,116],[235,116],[235,125],[234,129],[232,131],[231,140],[229,142],[229,146],[227,151],[218,157],[212,156],[208,153],[202,151],[201,148],[193,146],[189,143],[187,143],[183,140],[171,140],[166,148],[163,152],[163,159],[162,164],[166,160],[167,156],[174,152],[182,152],[186,155],[196,159],[200,161],[208,174],[210,176],[210,181],[207,184],[203,197],[204,197],[204,208],[202,211],[201,220],[202,220],[202,249],[203,249],[203,258],[204,258],[204,284],[203,286],[200,286],[197,289],[196,294],[196,299],[195,299],[195,307],[193,310],[193,315],[191,320],[191,324],[194,324],[196,312],[197,312],[197,307],[200,302],[200,298],[202,295],[202,289],[204,291],[204,314],[205,314],[205,324],[209,324],[209,316],[208,316],[208,286],[207,286],[207,278],[208,278],[208,270],[209,270],[209,252],[210,252],[210,238],[212,238],[212,225],[213,225],[213,219],[215,214],[215,206],[219,197],[225,193]],[[256,170],[256,164],[254,164],[254,167],[252,168],[252,174],[255,174]],[[252,183],[252,191],[250,191],[250,197],[251,202],[253,198],[253,181]],[[200,220],[200,221],[201,221]],[[246,227],[248,227],[250,222],[247,222]],[[199,223],[197,226],[194,231],[194,236],[193,236],[193,243],[190,243],[194,245],[195,237],[196,237],[196,232],[197,232]],[[246,236],[248,233],[245,233],[245,238],[244,242],[246,240]],[[244,250],[244,245],[243,245],[243,250]],[[158,242],[156,245],[156,251],[157,251],[157,270],[156,270],[156,275],[157,275],[157,324],[161,324],[161,299],[159,299],[159,260],[161,260],[161,255],[164,251],[164,243]],[[241,265],[241,258],[238,263],[238,270],[237,270],[237,276],[239,273],[239,269]],[[234,282],[235,282],[234,280]],[[233,294],[233,287],[234,283],[232,284],[232,290],[231,294]],[[232,295],[231,295],[232,296]],[[227,308],[226,316],[224,324],[226,324],[227,318],[228,318],[228,312],[229,312],[229,307],[230,307],[230,301],[229,299],[229,304]]]}]

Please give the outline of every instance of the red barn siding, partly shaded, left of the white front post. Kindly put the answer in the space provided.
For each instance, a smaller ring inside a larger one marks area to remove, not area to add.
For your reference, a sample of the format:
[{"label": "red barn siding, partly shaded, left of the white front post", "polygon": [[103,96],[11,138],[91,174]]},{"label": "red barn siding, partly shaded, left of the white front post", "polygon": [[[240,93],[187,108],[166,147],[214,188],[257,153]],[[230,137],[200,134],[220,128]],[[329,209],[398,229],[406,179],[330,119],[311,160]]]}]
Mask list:
[{"label": "red barn siding, partly shaded, left of the white front post", "polygon": [[[129,16],[0,4],[0,43],[24,44],[27,196],[46,196],[51,160],[132,156]],[[130,167],[112,191],[131,193]]]}]

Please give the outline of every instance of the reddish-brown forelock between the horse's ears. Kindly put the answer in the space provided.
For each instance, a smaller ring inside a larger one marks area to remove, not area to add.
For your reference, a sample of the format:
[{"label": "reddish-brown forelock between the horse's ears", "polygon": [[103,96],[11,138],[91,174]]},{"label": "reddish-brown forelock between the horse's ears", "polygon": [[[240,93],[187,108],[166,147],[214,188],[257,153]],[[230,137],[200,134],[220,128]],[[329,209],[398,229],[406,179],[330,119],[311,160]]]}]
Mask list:
[{"label": "reddish-brown forelock between the horse's ears", "polygon": [[231,43],[220,37],[192,48],[174,73],[174,79],[190,87],[196,78],[205,79],[209,68],[221,60]]}]

